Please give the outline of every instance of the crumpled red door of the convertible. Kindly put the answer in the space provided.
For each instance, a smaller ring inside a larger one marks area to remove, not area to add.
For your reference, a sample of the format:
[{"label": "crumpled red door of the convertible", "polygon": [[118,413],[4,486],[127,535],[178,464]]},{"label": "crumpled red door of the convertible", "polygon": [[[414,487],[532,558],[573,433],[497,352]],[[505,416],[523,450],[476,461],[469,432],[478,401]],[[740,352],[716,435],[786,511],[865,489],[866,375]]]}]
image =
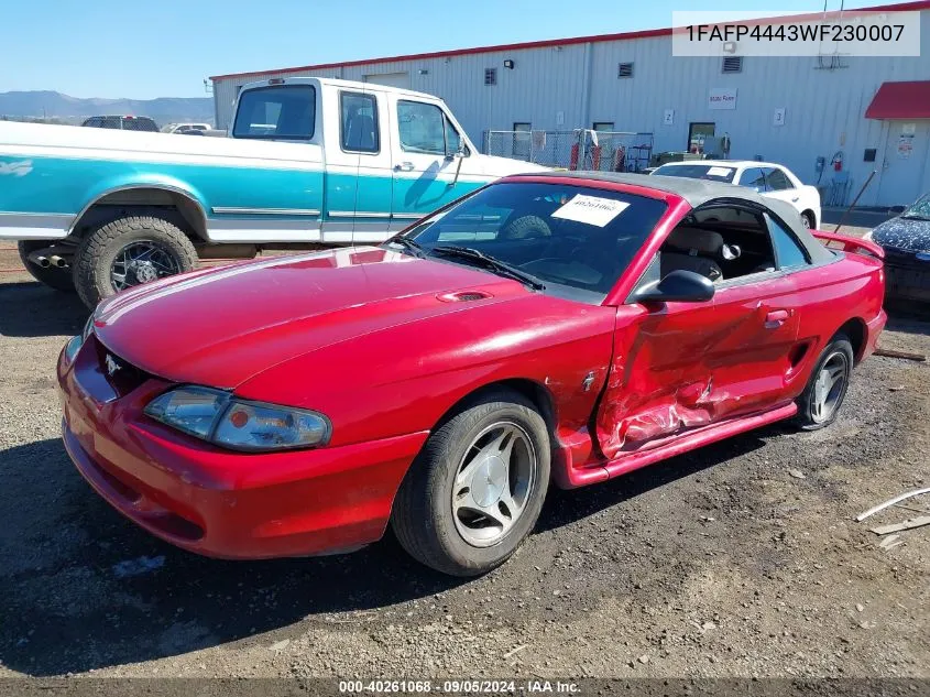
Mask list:
[{"label": "crumpled red door of the convertible", "polygon": [[798,319],[788,275],[724,286],[705,303],[619,307],[597,418],[606,458],[784,402]]}]

